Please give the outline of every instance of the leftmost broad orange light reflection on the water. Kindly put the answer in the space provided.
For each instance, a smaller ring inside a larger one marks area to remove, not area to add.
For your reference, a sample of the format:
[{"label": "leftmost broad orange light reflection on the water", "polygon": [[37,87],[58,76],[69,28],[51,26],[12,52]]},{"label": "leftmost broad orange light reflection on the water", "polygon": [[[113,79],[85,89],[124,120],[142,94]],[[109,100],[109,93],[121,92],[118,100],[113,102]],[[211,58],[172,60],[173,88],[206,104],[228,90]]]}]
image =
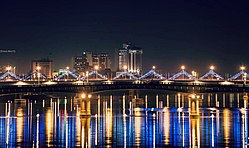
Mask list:
[{"label": "leftmost broad orange light reflection on the water", "polygon": [[24,117],[23,117],[23,109],[18,108],[16,113],[16,141],[23,141],[23,128],[24,128]]}]

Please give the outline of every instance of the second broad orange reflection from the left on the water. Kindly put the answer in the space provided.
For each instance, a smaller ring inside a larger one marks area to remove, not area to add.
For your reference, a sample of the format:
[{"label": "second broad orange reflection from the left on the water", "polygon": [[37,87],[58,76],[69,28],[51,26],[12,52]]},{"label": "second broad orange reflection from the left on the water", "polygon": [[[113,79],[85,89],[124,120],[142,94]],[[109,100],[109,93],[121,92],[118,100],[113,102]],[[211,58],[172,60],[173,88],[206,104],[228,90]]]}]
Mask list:
[{"label": "second broad orange reflection from the left on the water", "polygon": [[49,108],[46,112],[46,139],[48,143],[48,147],[51,146],[50,143],[52,141],[53,136],[53,113]]}]

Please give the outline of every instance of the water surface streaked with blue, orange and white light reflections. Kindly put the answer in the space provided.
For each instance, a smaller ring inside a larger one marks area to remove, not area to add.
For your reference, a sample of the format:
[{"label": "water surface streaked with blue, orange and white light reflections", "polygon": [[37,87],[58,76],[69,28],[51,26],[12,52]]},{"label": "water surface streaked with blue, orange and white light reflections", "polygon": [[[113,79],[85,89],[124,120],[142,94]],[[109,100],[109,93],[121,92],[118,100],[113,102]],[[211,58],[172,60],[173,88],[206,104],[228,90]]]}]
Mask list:
[{"label": "water surface streaked with blue, orange and white light reflections", "polygon": [[248,110],[241,94],[202,95],[197,117],[190,117],[184,94],[135,98],[93,96],[90,117],[80,116],[77,97],[7,99],[0,103],[0,147],[248,145]]}]

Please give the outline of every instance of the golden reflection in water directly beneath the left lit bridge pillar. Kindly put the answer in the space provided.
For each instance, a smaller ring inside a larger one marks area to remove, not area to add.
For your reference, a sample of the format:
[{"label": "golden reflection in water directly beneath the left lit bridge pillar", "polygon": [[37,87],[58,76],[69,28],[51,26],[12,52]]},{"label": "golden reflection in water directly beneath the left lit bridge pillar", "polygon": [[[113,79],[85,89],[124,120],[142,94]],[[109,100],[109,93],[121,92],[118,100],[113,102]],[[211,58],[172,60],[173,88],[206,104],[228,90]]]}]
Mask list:
[{"label": "golden reflection in water directly beneath the left lit bridge pillar", "polygon": [[91,133],[90,133],[90,121],[91,117],[90,116],[84,116],[80,117],[80,123],[81,123],[81,134],[80,134],[80,139],[81,139],[81,147],[91,147]]}]

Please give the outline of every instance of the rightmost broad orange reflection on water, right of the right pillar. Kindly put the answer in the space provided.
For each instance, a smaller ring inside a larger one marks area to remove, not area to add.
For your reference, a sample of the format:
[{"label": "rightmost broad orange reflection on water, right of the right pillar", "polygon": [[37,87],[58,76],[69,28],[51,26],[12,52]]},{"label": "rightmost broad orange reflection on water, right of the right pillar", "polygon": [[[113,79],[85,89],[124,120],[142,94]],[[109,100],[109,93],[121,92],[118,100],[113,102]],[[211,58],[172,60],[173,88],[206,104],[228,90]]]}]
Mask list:
[{"label": "rightmost broad orange reflection on water, right of the right pillar", "polygon": [[231,116],[232,113],[229,109],[224,109],[223,111],[223,126],[224,126],[224,140],[226,146],[230,143],[230,128],[231,128]]}]

